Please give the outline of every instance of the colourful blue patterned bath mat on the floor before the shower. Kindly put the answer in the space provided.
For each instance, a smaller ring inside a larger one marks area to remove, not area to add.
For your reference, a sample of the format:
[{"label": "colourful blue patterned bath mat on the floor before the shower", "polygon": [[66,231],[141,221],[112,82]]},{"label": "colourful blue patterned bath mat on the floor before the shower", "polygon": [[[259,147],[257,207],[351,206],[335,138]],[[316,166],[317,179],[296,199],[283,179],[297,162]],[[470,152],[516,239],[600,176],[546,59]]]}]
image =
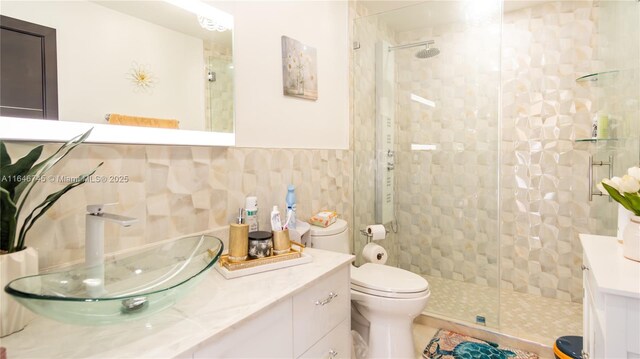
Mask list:
[{"label": "colourful blue patterned bath mat on the floor before the shower", "polygon": [[426,359],[538,359],[524,350],[499,347],[498,344],[439,329],[424,348]]}]

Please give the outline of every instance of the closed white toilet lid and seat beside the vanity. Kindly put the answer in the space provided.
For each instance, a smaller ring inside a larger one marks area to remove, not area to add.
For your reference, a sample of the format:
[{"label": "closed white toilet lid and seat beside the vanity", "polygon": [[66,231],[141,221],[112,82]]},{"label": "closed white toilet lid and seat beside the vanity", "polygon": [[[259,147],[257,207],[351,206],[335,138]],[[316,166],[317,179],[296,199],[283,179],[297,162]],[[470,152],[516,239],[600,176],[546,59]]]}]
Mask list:
[{"label": "closed white toilet lid and seat beside the vanity", "polygon": [[409,299],[429,293],[429,283],[404,269],[365,263],[351,268],[351,289],[378,297]]}]

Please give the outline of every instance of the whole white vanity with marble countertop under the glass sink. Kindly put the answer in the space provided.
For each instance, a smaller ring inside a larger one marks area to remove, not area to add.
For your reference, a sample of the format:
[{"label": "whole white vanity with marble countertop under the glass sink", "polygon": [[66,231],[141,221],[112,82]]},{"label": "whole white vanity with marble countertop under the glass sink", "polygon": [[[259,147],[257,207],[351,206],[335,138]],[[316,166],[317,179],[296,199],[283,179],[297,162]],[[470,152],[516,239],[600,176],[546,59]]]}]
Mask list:
[{"label": "whole white vanity with marble countertop under the glass sink", "polygon": [[98,328],[37,317],[0,342],[11,359],[348,358],[354,257],[305,253],[311,262],[231,280],[211,270],[148,318]]}]

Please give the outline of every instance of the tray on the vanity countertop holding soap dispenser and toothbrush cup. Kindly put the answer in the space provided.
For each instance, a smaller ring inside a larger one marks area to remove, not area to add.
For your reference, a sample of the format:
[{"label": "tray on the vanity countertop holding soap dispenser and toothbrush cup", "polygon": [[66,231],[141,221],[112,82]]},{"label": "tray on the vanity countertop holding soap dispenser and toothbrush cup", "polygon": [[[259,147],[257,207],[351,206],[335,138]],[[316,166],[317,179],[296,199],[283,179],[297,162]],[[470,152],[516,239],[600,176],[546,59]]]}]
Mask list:
[{"label": "tray on the vanity countertop holding soap dispenser and toothbrush cup", "polygon": [[[292,247],[288,253],[258,259],[248,259],[242,262],[229,262],[229,256],[225,254],[220,256],[218,260],[219,265],[215,266],[215,268],[218,273],[222,274],[226,279],[232,279],[312,261],[310,255],[302,252],[304,250],[303,244],[293,241],[291,244]],[[299,249],[295,249],[293,245],[298,246]]]}]

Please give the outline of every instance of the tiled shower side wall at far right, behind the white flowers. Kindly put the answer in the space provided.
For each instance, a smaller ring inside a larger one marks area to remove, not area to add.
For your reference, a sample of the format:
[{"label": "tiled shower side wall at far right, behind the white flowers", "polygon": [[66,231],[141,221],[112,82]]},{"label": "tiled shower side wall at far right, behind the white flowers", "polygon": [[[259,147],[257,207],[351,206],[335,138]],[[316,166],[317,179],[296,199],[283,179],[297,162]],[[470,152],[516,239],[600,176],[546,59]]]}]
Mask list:
[{"label": "tiled shower side wall at far right, behind the white flowers", "polygon": [[[622,176],[627,168],[638,166],[640,144],[640,4],[635,1],[605,1],[599,3],[598,58],[603,65],[598,71],[620,71],[610,77],[600,77],[599,86],[590,86],[603,113],[609,115],[610,136],[616,141],[587,144],[583,147],[594,153],[596,160],[613,156],[615,176]],[[606,171],[599,174],[608,177]],[[596,198],[594,212],[598,234],[616,235],[616,202]],[[592,208],[594,209],[594,208]]]}]

